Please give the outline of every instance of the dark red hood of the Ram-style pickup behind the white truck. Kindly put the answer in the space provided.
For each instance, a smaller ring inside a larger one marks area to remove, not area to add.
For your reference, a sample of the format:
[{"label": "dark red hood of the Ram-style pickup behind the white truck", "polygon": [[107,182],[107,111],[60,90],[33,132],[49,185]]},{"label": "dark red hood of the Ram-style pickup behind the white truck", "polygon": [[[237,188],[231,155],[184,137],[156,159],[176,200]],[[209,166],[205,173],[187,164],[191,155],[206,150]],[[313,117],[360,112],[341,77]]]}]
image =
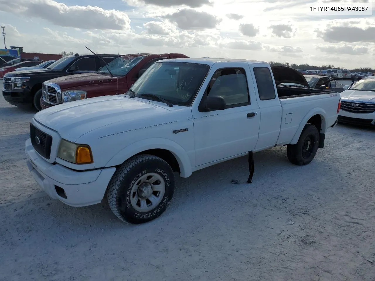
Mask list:
[{"label": "dark red hood of the Ram-style pickup behind the white truck", "polygon": [[[103,84],[103,82],[116,82],[118,77],[110,75],[102,75],[99,73],[80,73],[68,76],[62,76],[48,80],[60,86],[62,90],[72,87],[80,87],[84,85]],[[99,82],[101,81],[101,82]]]}]

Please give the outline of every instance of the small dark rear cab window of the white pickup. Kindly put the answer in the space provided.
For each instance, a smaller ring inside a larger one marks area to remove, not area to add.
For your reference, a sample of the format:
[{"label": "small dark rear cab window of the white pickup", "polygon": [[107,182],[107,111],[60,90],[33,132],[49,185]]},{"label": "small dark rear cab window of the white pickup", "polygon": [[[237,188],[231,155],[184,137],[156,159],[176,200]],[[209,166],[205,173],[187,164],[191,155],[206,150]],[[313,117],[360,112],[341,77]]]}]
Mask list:
[{"label": "small dark rear cab window of the white pickup", "polygon": [[257,81],[258,94],[261,100],[276,98],[274,82],[268,67],[254,67],[255,81]]}]

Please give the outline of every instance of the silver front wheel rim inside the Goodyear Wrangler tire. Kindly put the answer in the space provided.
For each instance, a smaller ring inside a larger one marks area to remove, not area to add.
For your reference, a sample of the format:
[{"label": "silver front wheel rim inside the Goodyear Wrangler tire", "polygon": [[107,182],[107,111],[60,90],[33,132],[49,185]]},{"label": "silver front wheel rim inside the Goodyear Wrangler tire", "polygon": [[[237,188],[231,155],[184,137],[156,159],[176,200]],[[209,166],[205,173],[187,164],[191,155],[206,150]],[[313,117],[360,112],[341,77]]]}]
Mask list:
[{"label": "silver front wheel rim inside the Goodyear Wrangler tire", "polygon": [[165,194],[165,182],[157,173],[142,175],[130,191],[130,203],[138,212],[149,212],[156,208]]}]

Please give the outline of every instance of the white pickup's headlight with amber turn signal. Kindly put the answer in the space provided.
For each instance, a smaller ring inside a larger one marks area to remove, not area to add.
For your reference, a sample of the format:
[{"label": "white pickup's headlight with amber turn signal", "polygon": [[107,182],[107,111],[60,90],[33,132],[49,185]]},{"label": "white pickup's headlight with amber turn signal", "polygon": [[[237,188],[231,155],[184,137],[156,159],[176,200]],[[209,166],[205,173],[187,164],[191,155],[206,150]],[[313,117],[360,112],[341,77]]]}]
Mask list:
[{"label": "white pickup's headlight with amber turn signal", "polygon": [[62,139],[58,147],[57,157],[75,164],[93,163],[91,148]]}]

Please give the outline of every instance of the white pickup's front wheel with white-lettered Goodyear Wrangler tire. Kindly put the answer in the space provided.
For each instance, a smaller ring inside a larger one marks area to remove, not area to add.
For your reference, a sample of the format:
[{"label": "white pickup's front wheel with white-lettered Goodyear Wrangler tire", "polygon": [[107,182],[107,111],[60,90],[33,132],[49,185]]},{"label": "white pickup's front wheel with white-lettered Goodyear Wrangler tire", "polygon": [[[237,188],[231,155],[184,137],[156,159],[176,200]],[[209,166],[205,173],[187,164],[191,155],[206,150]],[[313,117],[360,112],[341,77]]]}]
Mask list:
[{"label": "white pickup's front wheel with white-lettered Goodyear Wrangler tire", "polygon": [[114,173],[108,185],[108,204],[120,220],[146,223],[165,211],[174,187],[174,174],[166,161],[154,155],[136,155]]}]

